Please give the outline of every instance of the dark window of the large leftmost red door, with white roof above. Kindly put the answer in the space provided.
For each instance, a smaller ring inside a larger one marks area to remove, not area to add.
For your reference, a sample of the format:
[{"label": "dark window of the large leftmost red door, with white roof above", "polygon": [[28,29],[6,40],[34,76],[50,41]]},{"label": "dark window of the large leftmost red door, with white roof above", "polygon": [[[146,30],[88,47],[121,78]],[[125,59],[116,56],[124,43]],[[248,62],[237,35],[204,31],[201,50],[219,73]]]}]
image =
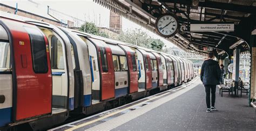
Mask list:
[{"label": "dark window of the large leftmost red door, with white roof above", "polygon": [[42,33],[31,27],[24,26],[24,29],[29,33],[32,53],[33,70],[35,73],[48,72],[46,45]]}]

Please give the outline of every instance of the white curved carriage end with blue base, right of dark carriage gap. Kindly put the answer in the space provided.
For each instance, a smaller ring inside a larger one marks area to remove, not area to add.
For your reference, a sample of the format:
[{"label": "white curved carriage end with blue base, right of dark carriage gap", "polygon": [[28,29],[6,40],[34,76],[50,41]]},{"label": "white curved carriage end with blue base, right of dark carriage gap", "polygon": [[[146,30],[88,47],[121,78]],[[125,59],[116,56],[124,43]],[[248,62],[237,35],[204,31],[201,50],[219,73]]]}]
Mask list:
[{"label": "white curved carriage end with blue base, right of dark carriage gap", "polygon": [[[88,46],[83,39],[72,31],[61,28],[68,36],[71,43],[71,52],[75,77],[75,97],[74,107],[87,107],[91,105],[91,89],[92,89],[92,61],[89,57]],[[90,61],[90,63],[88,63]]]}]

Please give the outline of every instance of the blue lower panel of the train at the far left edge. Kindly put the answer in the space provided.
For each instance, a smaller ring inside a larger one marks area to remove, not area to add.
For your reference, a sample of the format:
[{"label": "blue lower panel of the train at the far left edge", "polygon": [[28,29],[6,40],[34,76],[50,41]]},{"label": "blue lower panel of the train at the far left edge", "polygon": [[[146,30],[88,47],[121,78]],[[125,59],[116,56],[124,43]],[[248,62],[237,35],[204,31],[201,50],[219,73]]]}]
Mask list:
[{"label": "blue lower panel of the train at the far left edge", "polygon": [[0,127],[11,122],[11,107],[0,109]]}]

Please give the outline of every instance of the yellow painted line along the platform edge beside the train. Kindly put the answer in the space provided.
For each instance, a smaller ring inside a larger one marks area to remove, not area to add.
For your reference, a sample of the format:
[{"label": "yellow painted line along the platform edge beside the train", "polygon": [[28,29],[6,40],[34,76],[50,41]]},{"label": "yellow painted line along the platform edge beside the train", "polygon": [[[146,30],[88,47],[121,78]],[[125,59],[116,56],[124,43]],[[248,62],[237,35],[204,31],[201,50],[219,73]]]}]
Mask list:
[{"label": "yellow painted line along the platform edge beside the train", "polygon": [[68,130],[75,130],[75,129],[78,129],[78,128],[80,128],[80,127],[84,127],[84,126],[86,126],[86,125],[90,125],[91,123],[94,123],[94,122],[103,120],[103,119],[105,119],[105,118],[108,118],[109,116],[112,116],[112,115],[115,115],[115,114],[117,114],[117,113],[123,112],[123,111],[125,111],[126,109],[129,109],[129,108],[132,108],[132,107],[136,107],[136,106],[138,106],[138,105],[140,105],[140,104],[142,104],[142,103],[145,103],[145,102],[147,102],[147,101],[151,101],[151,100],[153,100],[153,99],[157,99],[157,98],[159,98],[159,97],[161,97],[161,96],[163,96],[163,95],[166,95],[166,94],[170,94],[170,92],[164,93],[164,94],[162,94],[162,95],[156,96],[156,97],[154,97],[154,98],[152,98],[152,99],[149,99],[149,100],[146,100],[146,101],[142,101],[142,102],[140,102],[140,103],[138,103],[138,104],[136,104],[136,105],[133,105],[133,106],[130,106],[130,107],[121,109],[121,110],[119,110],[119,111],[117,111],[117,112],[113,112],[113,113],[111,113],[111,114],[107,114],[107,115],[105,115],[105,116],[102,116],[101,118],[98,118],[98,119],[95,119],[95,120],[92,120],[92,121],[83,123],[83,124],[81,124],[81,125],[72,127],[72,128],[70,128],[70,129],[66,129],[66,131],[68,131]]}]

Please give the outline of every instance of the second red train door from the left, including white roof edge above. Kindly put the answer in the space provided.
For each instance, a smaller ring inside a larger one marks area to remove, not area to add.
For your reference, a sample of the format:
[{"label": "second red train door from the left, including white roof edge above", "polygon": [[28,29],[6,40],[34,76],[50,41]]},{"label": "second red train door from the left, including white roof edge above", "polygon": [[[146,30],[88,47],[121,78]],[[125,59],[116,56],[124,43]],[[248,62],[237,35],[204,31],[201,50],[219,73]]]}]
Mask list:
[{"label": "second red train door from the left, including white roof edge above", "polygon": [[102,40],[90,38],[97,47],[100,70],[100,101],[114,98],[114,68],[110,47]]}]

